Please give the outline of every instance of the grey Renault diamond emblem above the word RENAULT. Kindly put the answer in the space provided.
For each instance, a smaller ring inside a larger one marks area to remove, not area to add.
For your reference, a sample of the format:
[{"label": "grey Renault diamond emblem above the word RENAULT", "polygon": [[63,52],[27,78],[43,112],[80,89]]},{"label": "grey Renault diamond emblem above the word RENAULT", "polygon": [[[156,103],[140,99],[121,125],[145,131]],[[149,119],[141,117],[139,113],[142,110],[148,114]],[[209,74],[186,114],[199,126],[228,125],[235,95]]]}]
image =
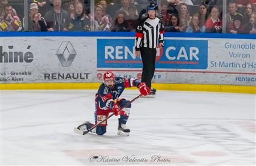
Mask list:
[{"label": "grey Renault diamond emblem above the word RENAULT", "polygon": [[[67,58],[65,54],[68,54]],[[56,55],[62,66],[71,66],[76,57],[76,50],[70,41],[63,41],[57,49]]]}]

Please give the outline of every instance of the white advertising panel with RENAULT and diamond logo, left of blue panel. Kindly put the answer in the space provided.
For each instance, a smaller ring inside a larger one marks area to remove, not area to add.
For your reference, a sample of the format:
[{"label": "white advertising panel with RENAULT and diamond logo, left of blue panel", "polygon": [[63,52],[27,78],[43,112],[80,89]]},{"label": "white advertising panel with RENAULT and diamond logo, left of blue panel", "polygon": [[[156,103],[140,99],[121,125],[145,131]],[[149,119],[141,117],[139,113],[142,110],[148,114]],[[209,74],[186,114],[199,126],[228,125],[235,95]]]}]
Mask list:
[{"label": "white advertising panel with RENAULT and diamond logo, left of blue panel", "polygon": [[4,37],[1,82],[96,81],[96,40],[92,37]]}]

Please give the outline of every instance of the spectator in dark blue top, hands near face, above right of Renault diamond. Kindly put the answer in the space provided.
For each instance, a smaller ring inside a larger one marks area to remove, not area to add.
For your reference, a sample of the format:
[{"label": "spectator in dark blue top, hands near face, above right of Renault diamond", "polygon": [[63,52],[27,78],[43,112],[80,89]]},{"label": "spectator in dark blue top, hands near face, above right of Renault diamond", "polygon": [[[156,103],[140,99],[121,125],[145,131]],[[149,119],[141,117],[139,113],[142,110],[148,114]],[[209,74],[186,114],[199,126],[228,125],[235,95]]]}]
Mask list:
[{"label": "spectator in dark blue top, hands near face, above right of Renault diamond", "polygon": [[75,3],[75,10],[70,15],[68,30],[69,31],[90,31],[90,20],[85,15],[84,6],[81,2]]}]

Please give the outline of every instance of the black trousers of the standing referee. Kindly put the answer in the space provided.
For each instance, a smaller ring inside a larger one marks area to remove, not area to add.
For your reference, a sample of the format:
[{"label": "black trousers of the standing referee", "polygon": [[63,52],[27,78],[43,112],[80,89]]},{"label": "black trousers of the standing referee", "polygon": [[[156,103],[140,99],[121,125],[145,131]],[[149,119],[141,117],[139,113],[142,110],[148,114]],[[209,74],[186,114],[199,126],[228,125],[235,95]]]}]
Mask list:
[{"label": "black trousers of the standing referee", "polygon": [[151,80],[155,73],[155,57],[156,49],[140,48],[143,63],[141,82],[145,82],[146,86],[151,88]]}]

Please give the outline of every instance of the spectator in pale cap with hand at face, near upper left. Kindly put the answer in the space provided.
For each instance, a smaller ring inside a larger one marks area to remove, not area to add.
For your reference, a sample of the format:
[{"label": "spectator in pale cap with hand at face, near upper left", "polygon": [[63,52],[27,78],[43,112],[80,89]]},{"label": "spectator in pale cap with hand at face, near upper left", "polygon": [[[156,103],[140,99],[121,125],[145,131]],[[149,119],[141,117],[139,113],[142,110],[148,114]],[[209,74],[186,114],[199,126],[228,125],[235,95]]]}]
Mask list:
[{"label": "spectator in pale cap with hand at face, near upper left", "polygon": [[30,11],[29,11],[28,18],[24,16],[22,22],[23,22],[23,28],[27,26],[28,31],[31,31],[31,32],[47,31],[46,21],[38,12],[38,5],[36,3],[30,4]]}]

